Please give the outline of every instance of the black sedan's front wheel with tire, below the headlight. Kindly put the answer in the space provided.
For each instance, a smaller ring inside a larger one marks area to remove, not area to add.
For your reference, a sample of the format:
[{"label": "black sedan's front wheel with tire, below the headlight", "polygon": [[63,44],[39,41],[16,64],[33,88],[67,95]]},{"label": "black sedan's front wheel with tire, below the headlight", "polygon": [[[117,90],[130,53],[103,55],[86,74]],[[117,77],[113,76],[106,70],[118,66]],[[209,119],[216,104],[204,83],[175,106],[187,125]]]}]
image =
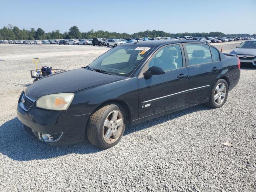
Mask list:
[{"label": "black sedan's front wheel with tire, below the headlight", "polygon": [[86,130],[88,140],[99,148],[110,148],[122,138],[125,122],[122,106],[106,105],[90,116]]}]

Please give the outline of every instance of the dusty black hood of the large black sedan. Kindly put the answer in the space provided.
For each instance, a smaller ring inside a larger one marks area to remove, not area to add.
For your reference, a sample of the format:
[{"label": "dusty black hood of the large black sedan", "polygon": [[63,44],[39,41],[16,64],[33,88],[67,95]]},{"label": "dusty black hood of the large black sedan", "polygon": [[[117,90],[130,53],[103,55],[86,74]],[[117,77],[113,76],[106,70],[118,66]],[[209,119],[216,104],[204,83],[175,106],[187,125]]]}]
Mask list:
[{"label": "dusty black hood of the large black sedan", "polygon": [[49,94],[73,93],[82,89],[126,78],[127,77],[103,74],[79,68],[42,78],[28,86],[25,93],[28,97],[37,100]]}]

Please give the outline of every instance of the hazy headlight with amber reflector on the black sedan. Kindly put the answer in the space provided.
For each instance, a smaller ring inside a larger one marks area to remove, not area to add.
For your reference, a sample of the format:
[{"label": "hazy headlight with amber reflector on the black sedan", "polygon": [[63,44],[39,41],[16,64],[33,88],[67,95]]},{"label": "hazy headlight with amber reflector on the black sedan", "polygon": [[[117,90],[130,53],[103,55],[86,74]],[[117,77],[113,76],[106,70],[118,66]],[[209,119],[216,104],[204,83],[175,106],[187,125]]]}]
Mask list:
[{"label": "hazy headlight with amber reflector on the black sedan", "polygon": [[36,101],[36,107],[57,111],[67,110],[74,95],[74,93],[59,93],[42,96]]}]

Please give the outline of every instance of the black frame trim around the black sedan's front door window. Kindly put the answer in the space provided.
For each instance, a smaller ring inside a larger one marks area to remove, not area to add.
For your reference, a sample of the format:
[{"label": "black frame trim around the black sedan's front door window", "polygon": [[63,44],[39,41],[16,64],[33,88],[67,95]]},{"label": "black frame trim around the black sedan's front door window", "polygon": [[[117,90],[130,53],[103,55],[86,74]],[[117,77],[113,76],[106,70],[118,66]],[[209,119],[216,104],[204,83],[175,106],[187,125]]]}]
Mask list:
[{"label": "black frame trim around the black sedan's front door window", "polygon": [[[185,54],[184,54],[184,48],[182,46],[181,43],[174,43],[174,44],[168,44],[168,45],[164,45],[164,46],[161,46],[159,47],[157,50],[155,50],[154,54],[152,54],[150,56],[150,58],[147,60],[147,62],[144,64],[142,70],[140,70],[140,73],[138,75],[138,78],[144,78],[144,75],[143,73],[146,72],[146,70],[148,70],[148,64],[149,62],[153,59],[153,57],[158,54],[159,50],[161,50],[162,48],[165,48],[165,47],[169,47],[169,46],[174,46],[174,45],[179,45],[180,46],[180,52],[181,52],[181,55],[182,55],[182,67],[181,68],[178,68],[178,69],[182,69],[182,68],[185,68],[186,67],[186,62],[185,62]],[[169,72],[169,71],[173,71],[173,70],[177,70],[177,69],[171,69],[171,70],[168,70],[168,71],[165,71],[166,72]]]}]

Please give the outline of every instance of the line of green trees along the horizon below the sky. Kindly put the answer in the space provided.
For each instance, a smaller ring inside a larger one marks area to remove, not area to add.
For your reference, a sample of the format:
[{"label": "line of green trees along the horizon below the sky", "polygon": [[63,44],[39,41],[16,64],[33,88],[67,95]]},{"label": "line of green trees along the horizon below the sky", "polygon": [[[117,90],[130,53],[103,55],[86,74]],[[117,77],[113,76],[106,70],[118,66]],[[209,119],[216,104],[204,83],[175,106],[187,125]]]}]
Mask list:
[{"label": "line of green trees along the horizon below the sky", "polygon": [[[79,39],[79,38],[133,38],[139,37],[143,38],[148,36],[150,38],[154,37],[184,37],[184,36],[193,36],[193,37],[207,37],[207,36],[250,36],[250,34],[224,34],[222,32],[209,32],[209,33],[168,33],[160,30],[146,30],[137,32],[134,34],[128,33],[118,33],[118,32],[108,32],[103,30],[94,31],[91,29],[88,32],[80,32],[77,26],[70,27],[68,32],[61,33],[60,30],[54,30],[52,32],[46,33],[41,28],[35,30],[31,28],[30,30],[19,29],[17,26],[4,26],[0,29],[0,40],[41,40],[41,39]],[[252,36],[256,36],[253,34]]]}]

